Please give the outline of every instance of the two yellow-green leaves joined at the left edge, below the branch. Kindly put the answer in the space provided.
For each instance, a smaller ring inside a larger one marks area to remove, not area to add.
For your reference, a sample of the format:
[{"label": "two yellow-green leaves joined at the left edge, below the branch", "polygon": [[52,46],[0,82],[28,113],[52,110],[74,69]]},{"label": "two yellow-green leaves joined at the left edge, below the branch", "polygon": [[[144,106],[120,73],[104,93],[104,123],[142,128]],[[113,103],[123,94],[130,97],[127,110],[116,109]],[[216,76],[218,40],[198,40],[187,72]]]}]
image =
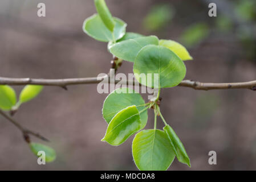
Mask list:
[{"label": "two yellow-green leaves joined at the left edge, below the branch", "polygon": [[11,110],[13,107],[19,107],[19,105],[38,96],[42,89],[43,86],[40,85],[26,85],[17,102],[15,90],[9,85],[0,85],[0,109]]}]

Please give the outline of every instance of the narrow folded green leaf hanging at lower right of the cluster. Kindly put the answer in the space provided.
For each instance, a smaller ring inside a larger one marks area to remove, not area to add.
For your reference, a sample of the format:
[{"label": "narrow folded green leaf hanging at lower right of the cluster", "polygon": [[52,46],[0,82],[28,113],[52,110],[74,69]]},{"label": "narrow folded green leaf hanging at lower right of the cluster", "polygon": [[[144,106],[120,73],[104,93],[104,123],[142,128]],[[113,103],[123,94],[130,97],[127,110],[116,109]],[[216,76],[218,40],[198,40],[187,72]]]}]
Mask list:
[{"label": "narrow folded green leaf hanging at lower right of the cluster", "polygon": [[173,151],[175,152],[178,161],[184,164],[188,164],[188,166],[191,167],[189,156],[188,154],[186,154],[186,150],[183,144],[181,143],[181,140],[178,138],[178,136],[176,135],[172,127],[170,127],[169,125],[166,125],[164,127],[164,131],[166,135],[168,135],[170,139],[170,143],[174,147]]}]

